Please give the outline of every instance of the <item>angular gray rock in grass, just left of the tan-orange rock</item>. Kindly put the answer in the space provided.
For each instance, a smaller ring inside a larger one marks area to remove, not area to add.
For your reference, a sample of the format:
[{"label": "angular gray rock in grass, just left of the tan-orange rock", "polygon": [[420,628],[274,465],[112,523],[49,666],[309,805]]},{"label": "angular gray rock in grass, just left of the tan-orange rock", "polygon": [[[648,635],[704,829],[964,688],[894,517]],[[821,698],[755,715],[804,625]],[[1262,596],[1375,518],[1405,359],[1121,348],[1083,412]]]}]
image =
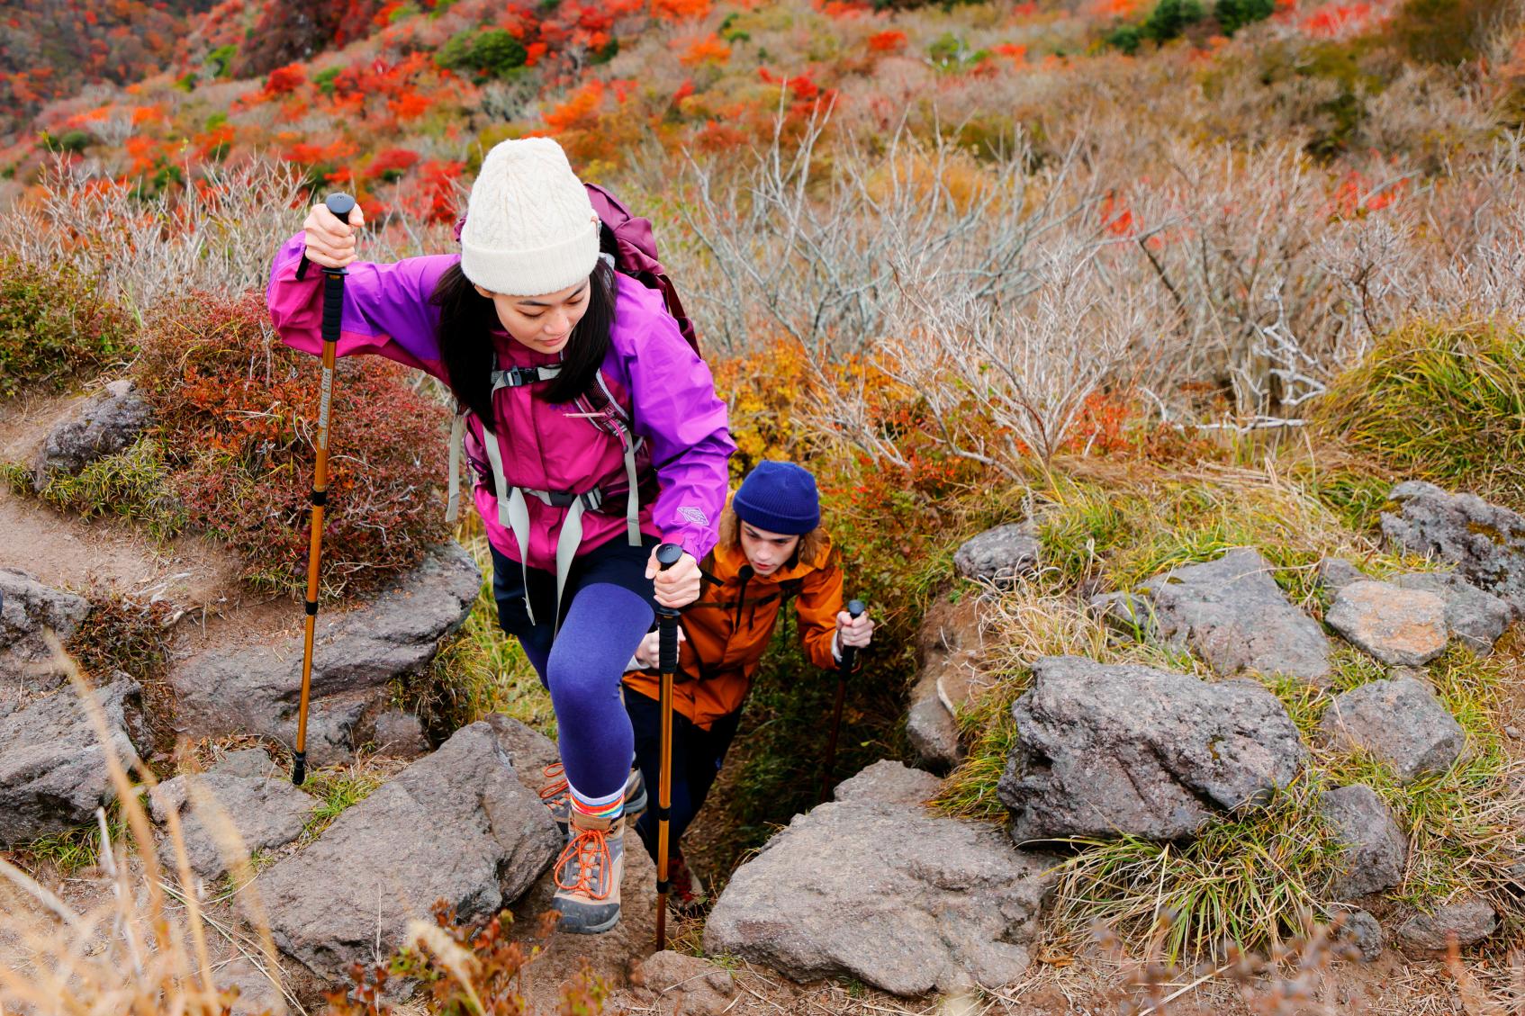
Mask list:
[{"label": "angular gray rock in grass, just left of the tan-orange rock", "polygon": [[1144,583],[1161,633],[1194,648],[1220,674],[1258,671],[1324,682],[1324,630],[1281,593],[1270,563],[1249,548],[1186,564]]}]

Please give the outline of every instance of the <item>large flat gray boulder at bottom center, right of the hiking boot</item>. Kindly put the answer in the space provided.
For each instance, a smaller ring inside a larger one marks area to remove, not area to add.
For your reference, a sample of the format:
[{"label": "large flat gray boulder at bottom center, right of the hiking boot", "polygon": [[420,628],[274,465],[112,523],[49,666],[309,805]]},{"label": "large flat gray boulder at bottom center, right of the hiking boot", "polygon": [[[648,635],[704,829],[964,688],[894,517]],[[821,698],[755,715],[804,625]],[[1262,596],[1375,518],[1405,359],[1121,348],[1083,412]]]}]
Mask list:
[{"label": "large flat gray boulder at bottom center, right of the hiking boot", "polygon": [[822,804],[730,876],[705,949],[895,995],[1000,987],[1028,966],[1043,871],[990,825],[903,804]]}]

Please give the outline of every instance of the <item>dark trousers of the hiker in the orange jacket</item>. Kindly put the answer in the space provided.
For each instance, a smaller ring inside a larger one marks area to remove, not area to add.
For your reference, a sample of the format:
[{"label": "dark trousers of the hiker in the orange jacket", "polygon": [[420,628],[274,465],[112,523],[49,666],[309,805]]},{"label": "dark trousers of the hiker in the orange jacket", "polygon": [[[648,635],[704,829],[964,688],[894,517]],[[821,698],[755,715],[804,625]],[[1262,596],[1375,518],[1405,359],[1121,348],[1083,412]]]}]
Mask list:
[{"label": "dark trousers of the hiker in the orange jacket", "polygon": [[[656,860],[657,856],[657,781],[662,764],[662,709],[656,699],[648,699],[639,691],[625,688],[625,711],[636,731],[636,761],[640,764],[640,776],[647,781],[647,813],[636,822],[636,833],[645,844],[647,853]],[[737,735],[737,725],[741,723],[741,711],[715,720],[706,731],[694,726],[680,712],[673,714],[673,812],[668,825],[668,842],[673,854],[682,856],[677,842],[683,831],[698,815],[709,787],[720,773],[720,764],[726,761],[726,749]]]}]

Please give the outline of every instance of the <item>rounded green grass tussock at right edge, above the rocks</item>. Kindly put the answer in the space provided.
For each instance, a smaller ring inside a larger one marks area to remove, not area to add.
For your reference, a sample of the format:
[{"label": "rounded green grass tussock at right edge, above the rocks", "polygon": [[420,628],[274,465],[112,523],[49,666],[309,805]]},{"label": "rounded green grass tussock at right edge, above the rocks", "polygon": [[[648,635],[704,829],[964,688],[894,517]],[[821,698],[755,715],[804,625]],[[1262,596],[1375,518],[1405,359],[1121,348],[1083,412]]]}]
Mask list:
[{"label": "rounded green grass tussock at right edge, above the rocks", "polygon": [[1520,506],[1525,334],[1502,322],[1414,322],[1336,378],[1315,420],[1395,473]]}]

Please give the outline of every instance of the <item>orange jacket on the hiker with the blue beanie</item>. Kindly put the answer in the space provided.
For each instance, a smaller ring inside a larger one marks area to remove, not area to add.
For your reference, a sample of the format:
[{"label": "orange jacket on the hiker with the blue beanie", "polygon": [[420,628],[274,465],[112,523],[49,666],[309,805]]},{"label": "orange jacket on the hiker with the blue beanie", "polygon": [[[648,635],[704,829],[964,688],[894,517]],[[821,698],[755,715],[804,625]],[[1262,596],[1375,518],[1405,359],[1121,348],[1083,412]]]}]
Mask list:
[{"label": "orange jacket on the hiker with the blue beanie", "polygon": [[[673,708],[703,729],[746,702],[785,596],[795,596],[799,636],[810,662],[824,668],[837,665],[831,639],[842,610],[842,566],[831,537],[816,529],[801,539],[793,564],[772,575],[753,575],[729,508],[726,516],[720,543],[700,563],[698,600],[683,610],[688,641],[679,644],[673,682]],[[660,676],[654,670],[627,673],[625,685],[648,699],[660,696]]]}]

